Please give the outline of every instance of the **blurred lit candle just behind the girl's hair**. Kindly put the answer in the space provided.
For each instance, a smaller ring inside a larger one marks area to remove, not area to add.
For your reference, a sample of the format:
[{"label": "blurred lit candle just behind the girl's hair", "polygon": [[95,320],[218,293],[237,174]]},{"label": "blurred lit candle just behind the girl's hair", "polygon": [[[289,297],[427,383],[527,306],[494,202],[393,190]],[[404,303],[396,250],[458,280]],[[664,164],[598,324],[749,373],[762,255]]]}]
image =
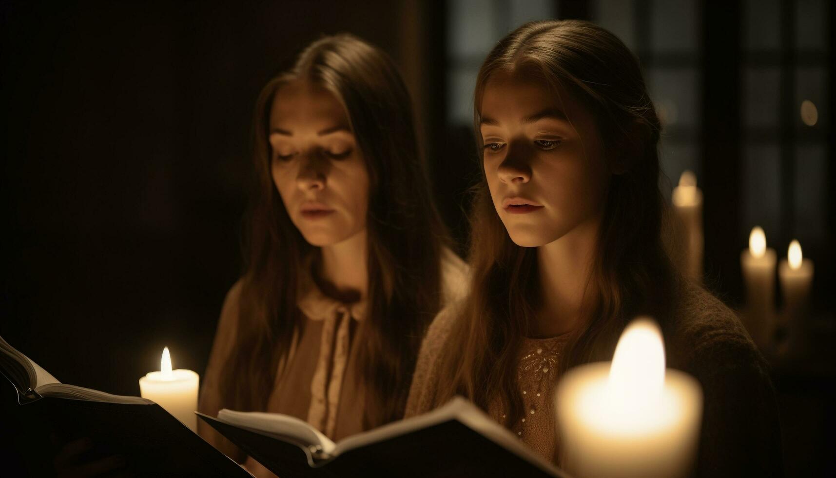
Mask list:
[{"label": "blurred lit candle just behind the girl's hair", "polygon": [[670,202],[674,205],[680,269],[689,279],[702,282],[702,191],[696,187],[693,172],[682,173]]}]

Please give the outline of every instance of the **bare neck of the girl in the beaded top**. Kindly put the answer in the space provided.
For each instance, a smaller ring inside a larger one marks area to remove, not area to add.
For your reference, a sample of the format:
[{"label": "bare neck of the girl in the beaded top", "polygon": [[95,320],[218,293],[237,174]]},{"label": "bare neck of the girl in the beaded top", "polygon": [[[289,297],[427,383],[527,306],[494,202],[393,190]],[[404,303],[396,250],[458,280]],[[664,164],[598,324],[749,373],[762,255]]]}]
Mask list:
[{"label": "bare neck of the girl in the beaded top", "polygon": [[540,306],[531,337],[573,331],[588,317],[594,293],[590,277],[600,218],[594,218],[537,249]]}]

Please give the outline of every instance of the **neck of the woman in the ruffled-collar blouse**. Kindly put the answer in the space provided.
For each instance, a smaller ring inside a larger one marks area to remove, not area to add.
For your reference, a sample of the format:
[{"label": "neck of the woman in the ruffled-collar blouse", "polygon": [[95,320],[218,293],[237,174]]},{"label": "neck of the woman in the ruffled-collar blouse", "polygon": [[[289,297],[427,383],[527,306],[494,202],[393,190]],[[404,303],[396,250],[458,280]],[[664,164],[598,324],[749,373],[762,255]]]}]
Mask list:
[{"label": "neck of the woman in the ruffled-collar blouse", "polygon": [[355,300],[369,291],[368,245],[365,229],[337,244],[323,246],[319,279],[328,291]]}]

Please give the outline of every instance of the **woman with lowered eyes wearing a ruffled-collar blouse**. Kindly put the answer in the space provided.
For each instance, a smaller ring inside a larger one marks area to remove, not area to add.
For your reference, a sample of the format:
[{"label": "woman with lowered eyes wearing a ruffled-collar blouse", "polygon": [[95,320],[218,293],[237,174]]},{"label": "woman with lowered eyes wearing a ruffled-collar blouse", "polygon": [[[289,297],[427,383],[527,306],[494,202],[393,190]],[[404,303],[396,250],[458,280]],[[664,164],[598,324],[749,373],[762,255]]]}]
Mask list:
[{"label": "woman with lowered eyes wearing a ruffled-collar blouse", "polygon": [[201,412],[290,414],[332,439],[400,419],[426,326],[466,284],[405,85],[379,49],[320,39],[264,87],[255,130],[247,268],[223,306]]}]

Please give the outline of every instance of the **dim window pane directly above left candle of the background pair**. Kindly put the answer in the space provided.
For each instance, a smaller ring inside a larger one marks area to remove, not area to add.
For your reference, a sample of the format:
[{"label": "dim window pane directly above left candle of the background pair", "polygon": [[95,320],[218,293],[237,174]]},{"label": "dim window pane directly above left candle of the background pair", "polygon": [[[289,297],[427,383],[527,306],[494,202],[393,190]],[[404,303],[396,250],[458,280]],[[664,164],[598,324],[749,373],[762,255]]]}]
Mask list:
[{"label": "dim window pane directly above left candle of the background pair", "polygon": [[[740,233],[749,237],[761,226],[773,240],[780,232],[781,162],[776,143],[748,142],[743,158],[743,222]],[[774,244],[770,244],[772,246]]]}]

